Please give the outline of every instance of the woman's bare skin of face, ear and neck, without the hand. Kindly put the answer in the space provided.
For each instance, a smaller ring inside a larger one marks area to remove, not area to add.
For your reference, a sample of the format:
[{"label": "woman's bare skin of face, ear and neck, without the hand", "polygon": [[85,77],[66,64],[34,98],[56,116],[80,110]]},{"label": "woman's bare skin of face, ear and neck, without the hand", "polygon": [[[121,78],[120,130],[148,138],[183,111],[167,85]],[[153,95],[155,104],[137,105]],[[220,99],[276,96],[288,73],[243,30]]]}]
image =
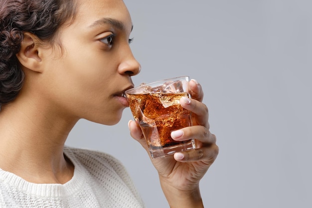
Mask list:
[{"label": "woman's bare skin of face, ear and neck, without the hand", "polygon": [[[132,21],[122,0],[81,0],[77,13],[70,25],[59,28],[62,50],[26,32],[16,54],[26,78],[17,98],[1,107],[0,167],[29,182],[69,181],[74,169],[63,146],[70,130],[81,118],[119,122],[127,107],[121,95],[140,71],[129,46]],[[103,18],[123,27],[107,21],[94,25]]]}]

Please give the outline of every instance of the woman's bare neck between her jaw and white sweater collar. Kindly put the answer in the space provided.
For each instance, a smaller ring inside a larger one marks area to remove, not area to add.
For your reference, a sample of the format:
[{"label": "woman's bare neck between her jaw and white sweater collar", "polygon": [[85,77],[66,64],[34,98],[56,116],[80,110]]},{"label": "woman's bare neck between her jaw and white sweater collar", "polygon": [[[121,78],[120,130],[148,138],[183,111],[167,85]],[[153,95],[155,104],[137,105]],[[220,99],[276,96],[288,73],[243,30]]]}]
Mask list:
[{"label": "woman's bare neck between her jaw and white sweater collar", "polygon": [[63,155],[66,138],[78,119],[53,108],[6,104],[0,111],[0,168],[32,183],[64,184],[73,165]]}]

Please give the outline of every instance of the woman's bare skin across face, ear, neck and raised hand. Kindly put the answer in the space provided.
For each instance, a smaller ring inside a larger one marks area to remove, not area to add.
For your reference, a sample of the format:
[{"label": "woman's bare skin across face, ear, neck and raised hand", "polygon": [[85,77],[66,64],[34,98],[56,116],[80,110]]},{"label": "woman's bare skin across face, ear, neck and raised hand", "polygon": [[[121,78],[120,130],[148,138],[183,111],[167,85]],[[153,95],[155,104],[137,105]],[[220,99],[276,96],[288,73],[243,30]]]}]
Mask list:
[{"label": "woman's bare skin across face, ear, neck and raised hand", "polygon": [[[119,122],[127,107],[121,94],[133,87],[131,76],[140,72],[128,43],[132,21],[124,2],[78,1],[74,21],[59,28],[63,50],[24,34],[16,56],[25,82],[17,98],[1,107],[0,168],[32,183],[64,184],[72,178],[74,167],[63,155],[70,130],[81,118],[105,125]],[[193,99],[181,105],[195,114],[194,126],[172,137],[196,138],[199,149],[183,153],[178,161],[173,156],[152,160],[171,208],[203,207],[199,180],[218,154],[202,89],[194,81],[190,88]],[[129,127],[147,149],[137,124],[131,121]]]}]

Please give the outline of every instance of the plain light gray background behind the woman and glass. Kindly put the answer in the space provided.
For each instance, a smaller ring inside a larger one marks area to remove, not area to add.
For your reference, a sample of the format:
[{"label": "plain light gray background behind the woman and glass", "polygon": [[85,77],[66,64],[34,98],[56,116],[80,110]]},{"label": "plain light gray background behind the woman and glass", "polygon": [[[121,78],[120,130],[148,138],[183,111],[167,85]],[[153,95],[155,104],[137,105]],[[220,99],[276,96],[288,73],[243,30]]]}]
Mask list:
[{"label": "plain light gray background behind the woman and glass", "polygon": [[[312,207],[312,1],[125,0],[136,85],[189,75],[203,86],[220,153],[201,181],[205,207]],[[147,153],[121,122],[81,120],[67,145],[127,167],[148,208],[168,208]]]}]

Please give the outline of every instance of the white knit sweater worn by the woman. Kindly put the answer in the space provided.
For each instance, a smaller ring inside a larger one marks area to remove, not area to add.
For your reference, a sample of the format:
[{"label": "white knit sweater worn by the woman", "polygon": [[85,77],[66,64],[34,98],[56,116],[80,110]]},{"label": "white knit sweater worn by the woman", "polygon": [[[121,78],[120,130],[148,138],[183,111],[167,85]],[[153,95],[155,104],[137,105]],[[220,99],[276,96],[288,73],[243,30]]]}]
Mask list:
[{"label": "white knit sweater worn by the woman", "polygon": [[75,166],[64,185],[33,184],[0,169],[0,208],[144,208],[117,159],[68,147],[64,154]]}]

